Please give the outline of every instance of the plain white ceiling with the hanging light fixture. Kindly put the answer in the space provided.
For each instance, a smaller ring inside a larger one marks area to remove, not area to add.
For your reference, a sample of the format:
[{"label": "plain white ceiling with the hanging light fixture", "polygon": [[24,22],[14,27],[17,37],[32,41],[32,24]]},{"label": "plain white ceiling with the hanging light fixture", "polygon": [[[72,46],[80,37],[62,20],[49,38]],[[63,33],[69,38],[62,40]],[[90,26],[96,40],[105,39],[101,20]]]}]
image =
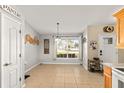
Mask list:
[{"label": "plain white ceiling with the hanging light fixture", "polygon": [[86,25],[113,24],[112,14],[124,6],[119,5],[17,5],[26,21],[41,34],[57,32],[56,23],[60,23],[60,33],[82,33]]}]

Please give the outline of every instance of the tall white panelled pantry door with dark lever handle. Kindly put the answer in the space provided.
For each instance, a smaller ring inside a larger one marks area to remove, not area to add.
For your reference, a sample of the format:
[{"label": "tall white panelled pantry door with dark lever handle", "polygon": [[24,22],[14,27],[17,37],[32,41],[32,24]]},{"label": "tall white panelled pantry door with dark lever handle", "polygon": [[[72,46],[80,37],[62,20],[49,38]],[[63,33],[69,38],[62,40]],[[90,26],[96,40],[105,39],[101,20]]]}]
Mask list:
[{"label": "tall white panelled pantry door with dark lever handle", "polygon": [[2,23],[2,87],[20,87],[21,24],[5,15]]}]

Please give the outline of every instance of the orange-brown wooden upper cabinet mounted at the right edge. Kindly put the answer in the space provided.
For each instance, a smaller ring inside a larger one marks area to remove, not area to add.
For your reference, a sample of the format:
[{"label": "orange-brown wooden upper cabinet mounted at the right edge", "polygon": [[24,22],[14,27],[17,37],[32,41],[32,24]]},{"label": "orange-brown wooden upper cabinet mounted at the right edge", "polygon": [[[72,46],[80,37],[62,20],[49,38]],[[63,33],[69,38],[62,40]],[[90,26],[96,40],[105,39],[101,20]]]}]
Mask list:
[{"label": "orange-brown wooden upper cabinet mounted at the right edge", "polygon": [[124,9],[113,15],[116,17],[117,48],[124,49]]}]

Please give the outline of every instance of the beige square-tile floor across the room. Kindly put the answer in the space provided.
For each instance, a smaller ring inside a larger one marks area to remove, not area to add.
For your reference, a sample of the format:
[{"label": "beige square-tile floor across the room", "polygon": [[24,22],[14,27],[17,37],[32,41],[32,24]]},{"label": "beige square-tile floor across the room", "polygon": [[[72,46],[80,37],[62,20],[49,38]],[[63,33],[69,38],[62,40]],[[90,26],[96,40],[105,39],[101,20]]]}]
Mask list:
[{"label": "beige square-tile floor across the room", "polygon": [[103,75],[81,65],[39,65],[28,74],[26,88],[102,88]]}]

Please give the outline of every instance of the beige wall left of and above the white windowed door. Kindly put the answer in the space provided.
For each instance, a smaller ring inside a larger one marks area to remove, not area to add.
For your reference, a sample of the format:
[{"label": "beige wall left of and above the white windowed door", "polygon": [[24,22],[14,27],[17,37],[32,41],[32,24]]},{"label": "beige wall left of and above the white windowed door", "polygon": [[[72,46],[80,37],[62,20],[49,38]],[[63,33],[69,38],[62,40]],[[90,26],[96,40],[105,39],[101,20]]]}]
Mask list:
[{"label": "beige wall left of and above the white windowed door", "polygon": [[[114,35],[115,36],[115,31],[113,31],[112,33],[105,33],[103,32],[103,27],[108,26],[109,24],[105,24],[105,25],[91,25],[88,26],[88,58],[92,59],[93,57],[99,57],[99,37],[100,36],[109,36],[109,35]],[[114,26],[114,25],[110,25],[110,26]],[[90,48],[90,41],[97,41],[97,49],[96,50],[92,50]]]}]

